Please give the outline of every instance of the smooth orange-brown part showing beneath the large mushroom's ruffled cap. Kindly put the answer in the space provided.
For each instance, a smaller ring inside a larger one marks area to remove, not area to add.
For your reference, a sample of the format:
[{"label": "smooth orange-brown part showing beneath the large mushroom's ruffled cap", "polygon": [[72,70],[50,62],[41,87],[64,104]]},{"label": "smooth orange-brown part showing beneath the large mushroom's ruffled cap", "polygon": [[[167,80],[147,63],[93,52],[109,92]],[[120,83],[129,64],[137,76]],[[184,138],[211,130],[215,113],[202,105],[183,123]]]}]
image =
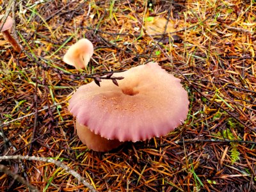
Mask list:
[{"label": "smooth orange-brown part showing beneath the large mushroom's ruffled cap", "polygon": [[90,131],[88,127],[81,125],[78,122],[76,122],[76,129],[80,140],[87,145],[88,148],[98,152],[106,152],[122,144],[122,142],[118,140],[102,138],[99,134],[95,134]]}]

